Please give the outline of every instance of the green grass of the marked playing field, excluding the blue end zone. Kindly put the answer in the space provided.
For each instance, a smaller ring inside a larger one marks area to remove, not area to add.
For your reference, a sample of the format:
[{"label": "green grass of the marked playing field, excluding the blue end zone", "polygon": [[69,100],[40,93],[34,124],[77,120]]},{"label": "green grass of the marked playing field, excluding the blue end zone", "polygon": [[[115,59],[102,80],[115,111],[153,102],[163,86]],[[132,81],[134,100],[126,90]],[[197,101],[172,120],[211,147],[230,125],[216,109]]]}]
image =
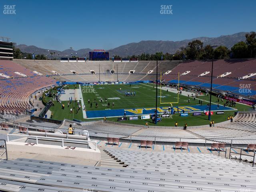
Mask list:
[{"label": "green grass of the marked playing field, excluding the blue end zone", "polygon": [[[121,88],[121,91],[120,91]],[[125,96],[125,92],[135,92],[135,96]],[[106,104],[114,102],[114,109],[129,109],[129,108],[149,108],[156,106],[156,85],[154,84],[122,84],[122,85],[95,85],[95,86],[82,86],[82,93],[84,102],[86,103],[86,110],[105,110]],[[158,96],[160,96],[160,90],[158,90]],[[172,92],[166,92],[162,90],[162,103],[178,102],[178,94]],[[100,103],[100,98],[103,99],[103,103]],[[120,99],[109,99],[120,98]],[[88,99],[93,102],[93,107],[90,108]],[[94,103],[94,99],[98,102],[98,108]],[[107,102],[105,103],[105,99]],[[207,102],[208,103],[208,102]],[[203,102],[204,104],[207,104]],[[188,104],[187,96],[179,96],[179,103],[173,104],[174,106],[192,106],[197,105],[198,100],[190,98]],[[160,98],[158,98],[158,106],[170,106],[170,104],[160,104]]]}]

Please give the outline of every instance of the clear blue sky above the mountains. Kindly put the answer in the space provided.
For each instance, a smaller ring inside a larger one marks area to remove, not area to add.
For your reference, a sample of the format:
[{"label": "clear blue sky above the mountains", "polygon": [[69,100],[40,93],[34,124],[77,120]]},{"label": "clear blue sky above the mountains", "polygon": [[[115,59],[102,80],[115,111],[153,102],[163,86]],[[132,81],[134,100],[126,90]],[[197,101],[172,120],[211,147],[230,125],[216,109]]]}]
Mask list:
[{"label": "clear blue sky above the mountains", "polygon": [[[4,5],[16,5],[16,14],[3,14]],[[160,14],[161,5],[173,14]],[[60,51],[256,31],[255,0],[1,0],[0,7],[0,36]]]}]

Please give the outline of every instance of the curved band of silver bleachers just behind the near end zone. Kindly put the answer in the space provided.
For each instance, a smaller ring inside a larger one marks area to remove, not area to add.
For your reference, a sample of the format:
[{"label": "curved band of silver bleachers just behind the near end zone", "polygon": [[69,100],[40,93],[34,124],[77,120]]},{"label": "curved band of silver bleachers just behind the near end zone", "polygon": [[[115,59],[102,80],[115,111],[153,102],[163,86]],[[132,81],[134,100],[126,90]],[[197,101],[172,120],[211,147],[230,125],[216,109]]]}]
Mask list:
[{"label": "curved band of silver bleachers just behind the near end zone", "polygon": [[[67,129],[70,122],[65,121],[60,129]],[[96,121],[74,125],[76,130],[88,130],[93,138],[121,138],[127,140],[151,140],[156,142],[186,141],[191,143],[225,142],[232,144],[256,143],[256,113],[239,113],[233,122],[226,122],[214,127],[198,126],[183,130],[178,128],[147,128],[132,125],[113,124],[111,122]]]}]

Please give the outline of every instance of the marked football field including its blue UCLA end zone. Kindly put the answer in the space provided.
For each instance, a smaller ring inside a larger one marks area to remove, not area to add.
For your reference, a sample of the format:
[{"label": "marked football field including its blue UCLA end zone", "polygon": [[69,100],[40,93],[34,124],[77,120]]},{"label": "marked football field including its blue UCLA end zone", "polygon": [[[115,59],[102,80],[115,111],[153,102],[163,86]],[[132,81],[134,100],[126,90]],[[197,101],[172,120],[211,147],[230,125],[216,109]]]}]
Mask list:
[{"label": "marked football field including its blue UCLA end zone", "polygon": [[[84,104],[86,105],[87,118],[102,118],[126,115],[153,114],[156,106],[156,85],[155,84],[106,84],[80,86]],[[198,98],[204,100],[203,96]],[[101,100],[102,99],[102,100]],[[90,103],[88,102],[90,100]],[[193,97],[178,95],[158,89],[157,95],[158,113],[168,110],[169,106],[181,112],[199,112],[207,110],[208,102],[203,101],[202,106],[199,100]],[[172,104],[171,104],[172,103]],[[232,108],[217,108],[212,104],[212,110],[234,110]]]}]

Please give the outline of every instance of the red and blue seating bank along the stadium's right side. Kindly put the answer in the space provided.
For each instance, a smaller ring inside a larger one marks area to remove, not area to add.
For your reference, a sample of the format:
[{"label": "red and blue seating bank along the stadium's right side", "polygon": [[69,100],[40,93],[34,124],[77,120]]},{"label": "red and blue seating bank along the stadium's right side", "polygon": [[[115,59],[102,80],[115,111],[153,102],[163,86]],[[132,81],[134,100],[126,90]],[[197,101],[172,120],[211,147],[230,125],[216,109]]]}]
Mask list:
[{"label": "red and blue seating bank along the stadium's right side", "polygon": [[[230,91],[234,94],[242,96],[255,96],[255,76],[247,79],[241,79],[249,73],[254,73],[255,59],[230,59],[230,60],[214,60],[213,68],[213,81],[212,86],[216,90]],[[162,78],[166,82],[178,83],[178,73],[182,74],[190,71],[186,75],[180,76],[180,84],[189,86],[198,86],[210,88],[211,73],[200,76],[204,72],[211,72],[212,61],[188,61],[180,63],[169,74],[164,75]],[[231,72],[227,76],[220,77],[220,75]],[[251,90],[242,90],[241,84],[250,84]]]}]

